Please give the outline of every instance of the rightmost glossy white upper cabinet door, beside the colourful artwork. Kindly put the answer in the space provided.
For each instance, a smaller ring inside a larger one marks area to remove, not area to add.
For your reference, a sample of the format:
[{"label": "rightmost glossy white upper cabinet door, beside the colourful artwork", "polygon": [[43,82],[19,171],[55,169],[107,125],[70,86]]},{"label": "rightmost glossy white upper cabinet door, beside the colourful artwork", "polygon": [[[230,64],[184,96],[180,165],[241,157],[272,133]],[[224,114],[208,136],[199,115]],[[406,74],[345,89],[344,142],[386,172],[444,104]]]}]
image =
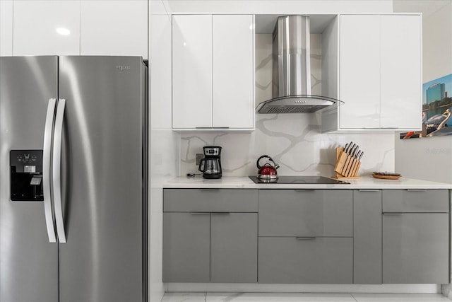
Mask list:
[{"label": "rightmost glossy white upper cabinet door, beside the colourful artwork", "polygon": [[381,128],[422,127],[421,16],[381,16]]}]

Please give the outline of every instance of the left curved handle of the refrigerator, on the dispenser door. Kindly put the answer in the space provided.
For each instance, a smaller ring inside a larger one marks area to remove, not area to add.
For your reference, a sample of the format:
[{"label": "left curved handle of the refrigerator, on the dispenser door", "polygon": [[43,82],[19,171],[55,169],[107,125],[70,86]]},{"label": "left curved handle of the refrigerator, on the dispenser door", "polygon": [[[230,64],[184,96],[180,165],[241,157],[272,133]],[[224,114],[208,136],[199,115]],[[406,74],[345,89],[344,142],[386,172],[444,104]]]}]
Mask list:
[{"label": "left curved handle of the refrigerator, on the dispenser door", "polygon": [[54,218],[52,214],[52,195],[50,191],[50,159],[52,156],[52,129],[54,127],[55,105],[57,100],[49,99],[44,126],[44,150],[42,158],[42,186],[44,189],[44,216],[49,243],[56,243]]}]

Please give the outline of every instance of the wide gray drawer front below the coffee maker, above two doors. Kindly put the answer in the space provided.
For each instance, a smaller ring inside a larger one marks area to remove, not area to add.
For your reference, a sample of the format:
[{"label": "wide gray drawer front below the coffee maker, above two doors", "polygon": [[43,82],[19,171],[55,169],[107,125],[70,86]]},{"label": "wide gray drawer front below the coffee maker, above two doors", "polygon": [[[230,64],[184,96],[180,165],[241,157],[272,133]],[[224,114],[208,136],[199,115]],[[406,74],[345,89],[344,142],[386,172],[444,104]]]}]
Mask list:
[{"label": "wide gray drawer front below the coffee maker, above two doors", "polygon": [[163,211],[257,212],[257,204],[257,190],[163,190]]}]

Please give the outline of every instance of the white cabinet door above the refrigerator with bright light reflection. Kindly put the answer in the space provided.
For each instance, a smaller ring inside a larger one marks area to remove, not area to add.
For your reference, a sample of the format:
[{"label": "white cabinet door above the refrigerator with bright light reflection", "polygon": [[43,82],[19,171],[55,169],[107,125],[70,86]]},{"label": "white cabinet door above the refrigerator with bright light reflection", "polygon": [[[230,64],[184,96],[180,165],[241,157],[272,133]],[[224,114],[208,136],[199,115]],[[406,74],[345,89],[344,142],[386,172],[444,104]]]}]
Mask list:
[{"label": "white cabinet door above the refrigerator with bright light reflection", "polygon": [[13,1],[13,55],[80,54],[80,1]]}]

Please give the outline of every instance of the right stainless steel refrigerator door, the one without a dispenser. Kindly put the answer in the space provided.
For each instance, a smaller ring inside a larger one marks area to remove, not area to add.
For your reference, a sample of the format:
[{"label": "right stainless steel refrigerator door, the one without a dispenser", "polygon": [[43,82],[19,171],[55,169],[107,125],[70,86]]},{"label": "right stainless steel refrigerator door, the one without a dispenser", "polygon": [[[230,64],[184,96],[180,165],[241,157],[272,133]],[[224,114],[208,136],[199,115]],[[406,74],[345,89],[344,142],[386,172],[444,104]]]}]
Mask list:
[{"label": "right stainless steel refrigerator door, the one without a dispenser", "polygon": [[60,57],[61,302],[143,301],[143,63]]}]

